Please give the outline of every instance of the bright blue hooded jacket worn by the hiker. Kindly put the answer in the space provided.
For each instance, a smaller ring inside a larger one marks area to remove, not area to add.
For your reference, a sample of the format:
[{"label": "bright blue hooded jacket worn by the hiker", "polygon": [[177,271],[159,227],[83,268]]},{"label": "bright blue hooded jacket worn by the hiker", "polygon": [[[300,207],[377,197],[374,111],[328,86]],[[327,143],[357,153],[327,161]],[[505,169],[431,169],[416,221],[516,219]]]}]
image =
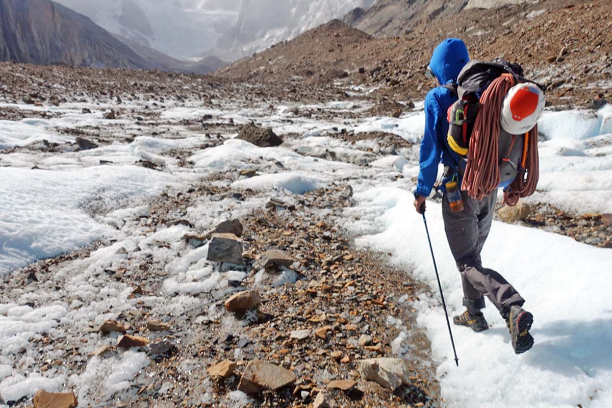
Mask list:
[{"label": "bright blue hooded jacket worn by the hiker", "polygon": [[[446,39],[433,51],[429,67],[440,84],[452,84],[457,82],[457,76],[468,61],[465,43],[459,39]],[[440,160],[450,168],[457,168],[460,163],[459,155],[448,147],[446,141],[449,132],[447,111],[456,101],[457,97],[441,86],[429,91],[425,97],[425,134],[420,145],[420,172],[415,195],[430,195],[438,177]]]}]

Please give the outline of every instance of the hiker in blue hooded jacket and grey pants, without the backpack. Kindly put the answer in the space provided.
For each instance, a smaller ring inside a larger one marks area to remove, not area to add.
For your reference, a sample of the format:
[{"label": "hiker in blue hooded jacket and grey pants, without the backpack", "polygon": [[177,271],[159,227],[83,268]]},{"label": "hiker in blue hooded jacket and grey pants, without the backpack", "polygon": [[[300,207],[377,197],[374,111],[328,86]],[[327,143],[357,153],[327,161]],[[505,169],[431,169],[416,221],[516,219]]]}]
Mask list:
[{"label": "hiker in blue hooded jacket and grey pants, without the backpack", "polygon": [[[524,299],[517,290],[498,272],[483,267],[480,259],[491,228],[497,188],[480,200],[461,190],[466,167],[465,152],[458,154],[450,148],[447,140],[450,138],[447,136],[447,111],[458,100],[458,76],[468,62],[468,50],[460,39],[442,41],[431,57],[426,76],[435,79],[437,86],[425,98],[425,134],[420,144],[420,172],[414,191],[414,207],[418,213],[425,211],[425,200],[430,196],[438,177],[438,165],[442,161],[442,216],[450,250],[461,274],[463,305],[466,306],[463,314],[453,317],[453,323],[470,327],[474,332],[487,330],[488,323],[481,311],[485,307],[484,297],[487,296],[506,320],[512,346],[520,354],[533,345],[533,338],[529,334],[532,314],[521,307]],[[457,146],[455,148],[459,149]],[[451,197],[449,201],[449,196],[457,198]],[[461,204],[460,208],[456,207],[458,204]]]}]

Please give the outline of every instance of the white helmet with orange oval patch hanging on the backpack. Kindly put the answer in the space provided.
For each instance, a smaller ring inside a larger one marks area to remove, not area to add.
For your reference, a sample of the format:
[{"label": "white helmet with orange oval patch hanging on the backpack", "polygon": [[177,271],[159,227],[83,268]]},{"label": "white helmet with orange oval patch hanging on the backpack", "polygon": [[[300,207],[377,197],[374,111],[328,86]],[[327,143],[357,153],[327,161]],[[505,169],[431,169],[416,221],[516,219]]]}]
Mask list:
[{"label": "white helmet with orange oval patch hanging on the backpack", "polygon": [[501,108],[501,127],[510,135],[529,132],[542,117],[546,100],[534,83],[522,83],[508,91]]}]

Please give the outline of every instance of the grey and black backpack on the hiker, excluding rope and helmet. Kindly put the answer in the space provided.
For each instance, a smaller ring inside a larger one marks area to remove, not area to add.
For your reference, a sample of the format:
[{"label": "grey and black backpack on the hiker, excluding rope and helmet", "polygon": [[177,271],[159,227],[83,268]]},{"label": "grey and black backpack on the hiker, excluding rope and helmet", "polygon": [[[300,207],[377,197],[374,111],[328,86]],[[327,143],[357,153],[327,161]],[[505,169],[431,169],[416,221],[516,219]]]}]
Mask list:
[{"label": "grey and black backpack on the hiker, excluding rope and helmet", "polygon": [[[496,78],[509,73],[515,83],[532,82],[524,78],[523,68],[518,64],[510,64],[502,58],[493,62],[472,60],[463,67],[457,78],[457,84],[445,85],[459,98],[447,111],[449,133],[447,143],[453,152],[466,158],[469,151],[469,141],[480,111],[480,97]],[[542,86],[538,85],[543,89]],[[500,182],[498,187],[506,188],[512,184],[520,171],[524,154],[524,135],[510,135],[500,129],[498,140],[498,161]]]}]

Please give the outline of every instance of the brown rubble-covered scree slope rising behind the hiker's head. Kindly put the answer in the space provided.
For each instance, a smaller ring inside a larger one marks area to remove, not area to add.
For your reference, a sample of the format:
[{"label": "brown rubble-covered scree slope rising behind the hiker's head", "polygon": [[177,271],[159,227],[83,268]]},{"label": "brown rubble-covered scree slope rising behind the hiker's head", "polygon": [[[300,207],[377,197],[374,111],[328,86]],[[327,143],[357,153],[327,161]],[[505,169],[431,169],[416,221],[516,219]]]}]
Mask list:
[{"label": "brown rubble-covered scree slope rising behind the hiker's head", "polygon": [[463,9],[408,33],[376,39],[340,21],[242,59],[216,75],[250,81],[294,81],[377,87],[380,98],[422,99],[433,48],[460,37],[472,58],[506,57],[548,86],[554,106],[599,106],[612,100],[612,15],[605,0],[544,0],[499,9]]}]

